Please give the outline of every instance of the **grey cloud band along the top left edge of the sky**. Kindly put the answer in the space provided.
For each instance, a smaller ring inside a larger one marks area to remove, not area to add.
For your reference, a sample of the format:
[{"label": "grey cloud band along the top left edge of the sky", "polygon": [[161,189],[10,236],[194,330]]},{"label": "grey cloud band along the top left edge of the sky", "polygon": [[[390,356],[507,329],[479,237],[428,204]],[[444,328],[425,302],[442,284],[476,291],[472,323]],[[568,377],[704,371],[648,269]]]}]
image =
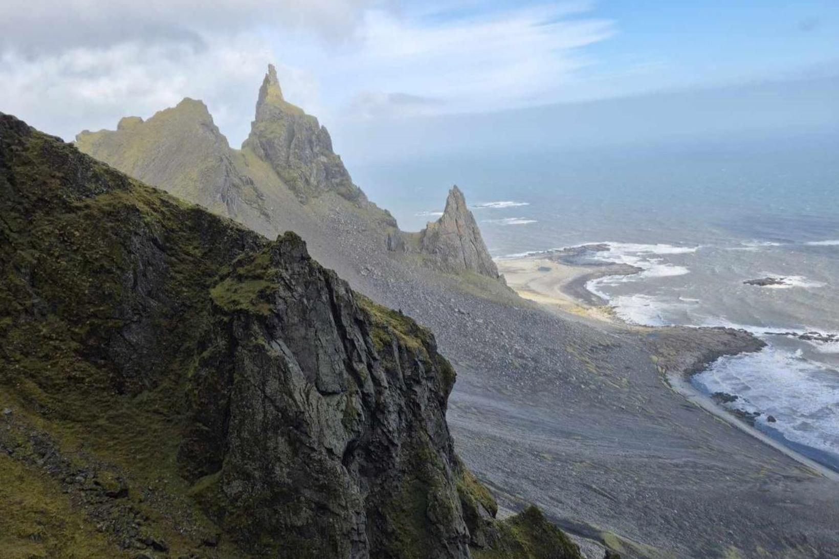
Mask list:
[{"label": "grey cloud band along the top left edge of the sky", "polygon": [[125,41],[201,44],[202,35],[266,26],[352,33],[368,0],[3,0],[0,47],[26,55]]}]

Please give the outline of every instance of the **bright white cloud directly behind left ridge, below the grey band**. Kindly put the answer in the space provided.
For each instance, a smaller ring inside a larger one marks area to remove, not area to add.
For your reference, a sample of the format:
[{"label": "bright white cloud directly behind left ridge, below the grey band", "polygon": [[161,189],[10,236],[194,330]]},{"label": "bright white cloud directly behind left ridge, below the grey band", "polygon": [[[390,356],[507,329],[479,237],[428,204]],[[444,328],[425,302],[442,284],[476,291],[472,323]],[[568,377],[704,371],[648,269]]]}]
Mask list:
[{"label": "bright white cloud directly behind left ridge, below the grey band", "polygon": [[[204,48],[129,41],[34,59],[7,52],[0,55],[0,111],[69,140],[83,128],[114,128],[123,116],[148,118],[195,97],[237,145],[248,133],[258,86],[273,57],[263,40],[248,34]],[[289,94],[316,97],[311,76],[284,65],[278,71]]]}]

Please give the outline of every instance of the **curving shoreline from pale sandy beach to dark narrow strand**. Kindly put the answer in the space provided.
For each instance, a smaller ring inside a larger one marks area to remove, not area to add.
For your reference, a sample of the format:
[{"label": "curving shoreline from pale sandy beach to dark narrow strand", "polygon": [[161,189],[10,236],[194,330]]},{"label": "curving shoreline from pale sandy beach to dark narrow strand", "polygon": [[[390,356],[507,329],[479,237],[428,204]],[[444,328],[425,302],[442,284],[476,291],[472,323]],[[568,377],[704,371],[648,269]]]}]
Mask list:
[{"label": "curving shoreline from pale sandy beach to dark narrow strand", "polygon": [[[574,250],[575,248],[565,249],[571,253]],[[831,465],[818,462],[806,456],[801,450],[795,449],[795,446],[806,447],[805,445],[795,441],[781,441],[756,426],[748,425],[733,414],[732,410],[718,405],[711,400],[710,396],[702,393],[691,383],[690,379],[695,374],[706,370],[717,358],[723,355],[760,351],[766,346],[765,342],[752,333],[730,328],[647,327],[628,324],[615,315],[607,301],[587,290],[586,284],[607,275],[634,274],[640,270],[626,264],[569,264],[562,261],[565,251],[549,251],[520,258],[498,259],[496,264],[498,271],[504,274],[508,285],[524,299],[533,300],[572,318],[585,317],[617,327],[625,332],[647,331],[660,335],[660,337],[656,336],[659,339],[651,342],[653,347],[650,349],[656,356],[656,363],[664,384],[667,384],[676,394],[728,425],[782,452],[814,473],[839,481],[839,471]],[[715,334],[708,336],[707,332],[715,332]],[[724,336],[720,336],[720,332],[728,332],[731,341],[727,342]],[[677,347],[675,353],[674,346]],[[665,355],[660,355],[662,350]],[[810,447],[806,448],[810,449]],[[812,451],[816,455],[821,452],[816,448]]]}]

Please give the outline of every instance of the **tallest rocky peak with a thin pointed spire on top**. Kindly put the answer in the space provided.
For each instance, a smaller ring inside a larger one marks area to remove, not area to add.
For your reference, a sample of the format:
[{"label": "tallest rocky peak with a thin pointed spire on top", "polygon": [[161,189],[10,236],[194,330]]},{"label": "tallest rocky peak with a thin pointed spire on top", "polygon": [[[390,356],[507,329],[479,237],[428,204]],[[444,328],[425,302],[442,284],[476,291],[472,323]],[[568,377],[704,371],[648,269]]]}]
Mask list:
[{"label": "tallest rocky peak with a thin pointed spire on top", "polygon": [[331,191],[359,205],[367,202],[332,151],[326,127],[285,101],[273,65],[259,88],[256,118],[242,149],[268,161],[301,201]]}]

